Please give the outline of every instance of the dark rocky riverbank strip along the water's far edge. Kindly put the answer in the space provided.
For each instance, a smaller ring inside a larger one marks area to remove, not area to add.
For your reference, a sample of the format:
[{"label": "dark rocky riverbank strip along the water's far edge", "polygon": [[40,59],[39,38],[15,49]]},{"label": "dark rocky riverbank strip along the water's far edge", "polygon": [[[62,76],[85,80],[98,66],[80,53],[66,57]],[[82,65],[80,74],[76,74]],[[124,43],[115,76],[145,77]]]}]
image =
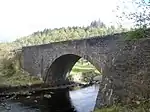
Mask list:
[{"label": "dark rocky riverbank strip along the water's far edge", "polygon": [[34,85],[24,85],[24,86],[2,86],[0,87],[0,97],[12,96],[12,95],[32,95],[33,93],[42,93],[56,89],[68,89],[77,90],[81,88],[86,88],[92,84],[80,84],[76,82],[70,82],[66,85],[51,86],[45,83],[34,84]]}]

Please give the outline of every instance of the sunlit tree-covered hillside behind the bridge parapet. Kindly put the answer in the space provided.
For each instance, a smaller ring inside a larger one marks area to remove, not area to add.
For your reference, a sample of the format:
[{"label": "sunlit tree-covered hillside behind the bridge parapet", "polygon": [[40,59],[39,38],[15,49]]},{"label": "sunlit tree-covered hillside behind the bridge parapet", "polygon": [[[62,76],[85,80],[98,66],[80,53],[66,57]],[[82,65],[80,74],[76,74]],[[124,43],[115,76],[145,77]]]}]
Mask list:
[{"label": "sunlit tree-covered hillside behind the bridge parapet", "polygon": [[91,22],[90,26],[87,27],[44,29],[43,31],[34,32],[32,35],[17,39],[13,42],[13,45],[15,45],[15,47],[22,47],[29,45],[47,44],[50,42],[83,39],[123,31],[127,31],[127,29],[122,28],[122,26],[106,27],[106,25],[99,20]]}]

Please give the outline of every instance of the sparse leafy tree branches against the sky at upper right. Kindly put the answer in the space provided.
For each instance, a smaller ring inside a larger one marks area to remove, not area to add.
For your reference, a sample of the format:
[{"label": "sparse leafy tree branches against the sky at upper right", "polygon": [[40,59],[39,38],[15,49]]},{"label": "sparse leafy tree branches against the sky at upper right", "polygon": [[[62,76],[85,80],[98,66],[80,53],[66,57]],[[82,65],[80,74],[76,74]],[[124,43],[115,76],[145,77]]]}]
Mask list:
[{"label": "sparse leafy tree branches against the sky at upper right", "polygon": [[117,15],[121,21],[130,20],[135,28],[147,28],[150,25],[150,6],[144,0],[122,0],[123,6],[117,6]]}]

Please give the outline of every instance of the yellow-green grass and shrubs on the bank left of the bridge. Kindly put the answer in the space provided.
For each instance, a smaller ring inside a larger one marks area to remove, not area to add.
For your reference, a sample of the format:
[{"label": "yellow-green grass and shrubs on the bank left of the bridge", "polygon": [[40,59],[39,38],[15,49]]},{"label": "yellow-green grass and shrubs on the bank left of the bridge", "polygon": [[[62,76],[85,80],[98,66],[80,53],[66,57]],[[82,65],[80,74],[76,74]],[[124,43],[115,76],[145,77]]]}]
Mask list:
[{"label": "yellow-green grass and shrubs on the bank left of the bridge", "polygon": [[0,86],[40,83],[21,69],[21,52],[14,49],[12,43],[0,43]]}]

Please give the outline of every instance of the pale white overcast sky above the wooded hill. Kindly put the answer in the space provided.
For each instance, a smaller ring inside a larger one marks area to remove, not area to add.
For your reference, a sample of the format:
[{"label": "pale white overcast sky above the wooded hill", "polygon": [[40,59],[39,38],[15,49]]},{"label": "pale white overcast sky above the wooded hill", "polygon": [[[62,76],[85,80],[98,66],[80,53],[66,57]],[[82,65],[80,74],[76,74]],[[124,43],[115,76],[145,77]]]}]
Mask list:
[{"label": "pale white overcast sky above the wooded hill", "polygon": [[0,41],[13,41],[45,28],[116,22],[119,0],[0,0]]}]

